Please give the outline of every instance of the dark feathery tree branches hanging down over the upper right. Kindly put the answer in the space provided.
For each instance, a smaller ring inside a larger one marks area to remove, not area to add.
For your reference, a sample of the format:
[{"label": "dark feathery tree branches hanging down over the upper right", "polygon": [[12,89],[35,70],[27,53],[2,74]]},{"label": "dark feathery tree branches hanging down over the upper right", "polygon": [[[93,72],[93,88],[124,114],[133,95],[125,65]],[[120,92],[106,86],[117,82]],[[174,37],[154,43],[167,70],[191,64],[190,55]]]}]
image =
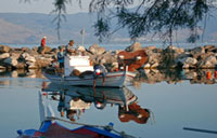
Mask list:
[{"label": "dark feathery tree branches hanging down over the upper right", "polygon": [[[25,0],[28,1],[28,0]],[[58,30],[61,28],[62,17],[66,12],[66,4],[85,0],[54,0],[54,19]],[[138,2],[138,6],[129,9]],[[115,31],[127,28],[132,40],[148,33],[159,34],[165,40],[173,42],[173,32],[179,29],[190,29],[189,42],[195,42],[200,36],[199,23],[216,9],[217,0],[91,0],[89,12],[98,13],[95,36],[102,41]],[[116,28],[111,23],[117,19]]]}]

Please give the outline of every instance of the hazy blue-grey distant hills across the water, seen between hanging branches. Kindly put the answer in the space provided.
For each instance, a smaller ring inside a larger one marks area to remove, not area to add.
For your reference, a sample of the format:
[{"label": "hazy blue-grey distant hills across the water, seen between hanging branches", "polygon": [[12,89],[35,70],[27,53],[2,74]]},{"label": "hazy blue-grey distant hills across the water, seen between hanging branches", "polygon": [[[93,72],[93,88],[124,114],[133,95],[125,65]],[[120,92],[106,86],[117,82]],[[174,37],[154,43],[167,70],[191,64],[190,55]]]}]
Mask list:
[{"label": "hazy blue-grey distant hills across the water, seen between hanging branches", "polygon": [[[217,14],[216,14],[217,16]],[[0,43],[39,43],[43,36],[48,37],[49,43],[67,43],[74,39],[81,43],[80,30],[86,29],[85,42],[97,43],[94,37],[95,15],[89,13],[77,13],[66,15],[66,22],[61,24],[61,41],[58,40],[56,24],[52,20],[55,15],[39,13],[0,13]],[[217,41],[217,18],[207,22],[204,41]],[[115,23],[112,23],[115,26]],[[178,32],[178,41],[186,41],[188,31]],[[126,29],[112,36],[111,43],[128,42],[129,37]],[[142,42],[158,41],[151,37],[141,38]]]}]

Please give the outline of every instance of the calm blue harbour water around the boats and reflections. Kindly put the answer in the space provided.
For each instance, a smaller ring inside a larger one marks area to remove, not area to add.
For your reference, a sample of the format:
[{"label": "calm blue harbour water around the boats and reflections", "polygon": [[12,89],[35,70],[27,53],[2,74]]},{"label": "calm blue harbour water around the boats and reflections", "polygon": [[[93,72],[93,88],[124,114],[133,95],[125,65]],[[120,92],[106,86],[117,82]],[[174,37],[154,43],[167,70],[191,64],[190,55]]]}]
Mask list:
[{"label": "calm blue harbour water around the boats and reflections", "polygon": [[[80,96],[80,99],[91,102],[79,119],[76,114],[74,119],[76,122],[98,125],[106,125],[113,122],[117,130],[141,138],[217,137],[215,134],[183,130],[183,127],[192,127],[217,132],[217,79],[214,75],[210,80],[205,79],[205,77],[199,78],[199,75],[205,74],[206,71],[214,73],[214,70],[205,70],[196,72],[197,77],[195,77],[194,71],[192,71],[194,75],[190,75],[189,71],[184,71],[177,73],[178,75],[165,75],[164,78],[164,71],[145,71],[146,73],[135,81],[135,86],[127,87],[127,93],[138,98],[132,99],[131,102],[140,106],[141,110],[149,109],[151,111],[151,116],[146,123],[143,122],[144,124],[138,123],[136,120],[122,122],[118,118],[120,111],[118,107],[120,105],[117,104],[120,99],[116,94],[126,91],[115,92],[114,89],[104,89],[104,99],[107,102],[104,109],[95,107],[91,88],[81,87],[81,89],[78,88],[78,93],[73,92],[74,96],[72,97],[74,99],[75,95],[79,94],[85,95],[84,97]],[[155,75],[162,77],[162,80],[154,79]],[[43,82],[48,82],[48,80],[37,70],[30,70],[30,72],[22,70],[18,72],[0,72],[1,137],[16,137],[17,129],[39,128],[38,92],[41,91]],[[97,88],[99,101],[103,97],[102,89]],[[56,96],[56,98],[60,98],[60,96]],[[44,97],[44,101],[51,105],[56,116],[62,118],[58,110],[60,101],[53,100],[51,96]],[[111,105],[111,102],[116,104]],[[62,119],[68,120],[66,112]],[[75,127],[77,126],[72,126],[72,128]]]}]

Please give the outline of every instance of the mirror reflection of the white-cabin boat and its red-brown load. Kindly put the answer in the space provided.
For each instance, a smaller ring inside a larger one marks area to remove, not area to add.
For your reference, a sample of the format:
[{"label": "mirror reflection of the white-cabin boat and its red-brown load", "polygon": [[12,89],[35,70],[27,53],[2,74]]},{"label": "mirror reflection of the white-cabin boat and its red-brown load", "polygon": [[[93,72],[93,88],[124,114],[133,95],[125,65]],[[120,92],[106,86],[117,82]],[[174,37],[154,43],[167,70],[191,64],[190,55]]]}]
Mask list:
[{"label": "mirror reflection of the white-cabin boat and its red-brown load", "polygon": [[106,105],[118,106],[120,122],[135,121],[144,124],[150,118],[150,110],[141,108],[138,97],[127,87],[64,87],[50,83],[43,85],[42,91],[50,95],[51,99],[59,100],[58,110],[61,116],[65,115],[71,121],[75,121],[75,116],[79,120],[92,104],[99,110],[103,110]]}]

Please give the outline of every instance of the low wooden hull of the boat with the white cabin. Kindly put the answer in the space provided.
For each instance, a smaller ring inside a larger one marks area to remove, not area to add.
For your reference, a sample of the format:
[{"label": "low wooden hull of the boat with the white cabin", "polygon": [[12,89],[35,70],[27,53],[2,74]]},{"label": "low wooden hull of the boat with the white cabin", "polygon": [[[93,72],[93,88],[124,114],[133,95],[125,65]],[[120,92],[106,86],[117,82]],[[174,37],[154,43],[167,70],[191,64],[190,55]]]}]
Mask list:
[{"label": "low wooden hull of the boat with the white cabin", "polygon": [[[93,75],[78,77],[60,77],[53,74],[44,74],[52,83],[72,86],[93,86]],[[95,81],[95,86],[105,87],[123,87],[130,85],[131,80],[136,77],[135,73],[128,71],[110,72],[105,77],[103,85],[103,78],[100,75]]]}]

